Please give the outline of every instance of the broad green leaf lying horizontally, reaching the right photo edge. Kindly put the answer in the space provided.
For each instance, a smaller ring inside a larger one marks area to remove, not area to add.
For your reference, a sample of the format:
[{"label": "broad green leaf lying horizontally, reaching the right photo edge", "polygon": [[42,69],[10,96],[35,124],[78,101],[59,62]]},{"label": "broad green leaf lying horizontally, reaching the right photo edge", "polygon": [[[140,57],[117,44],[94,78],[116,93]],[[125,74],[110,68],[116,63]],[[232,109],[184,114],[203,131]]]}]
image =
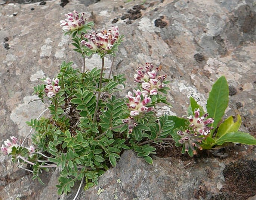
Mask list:
[{"label": "broad green leaf lying horizontally, reaching the right photo edge", "polygon": [[225,142],[241,143],[245,145],[256,145],[256,138],[249,133],[244,132],[231,132],[226,133],[218,140],[215,141],[216,145],[223,145]]}]

